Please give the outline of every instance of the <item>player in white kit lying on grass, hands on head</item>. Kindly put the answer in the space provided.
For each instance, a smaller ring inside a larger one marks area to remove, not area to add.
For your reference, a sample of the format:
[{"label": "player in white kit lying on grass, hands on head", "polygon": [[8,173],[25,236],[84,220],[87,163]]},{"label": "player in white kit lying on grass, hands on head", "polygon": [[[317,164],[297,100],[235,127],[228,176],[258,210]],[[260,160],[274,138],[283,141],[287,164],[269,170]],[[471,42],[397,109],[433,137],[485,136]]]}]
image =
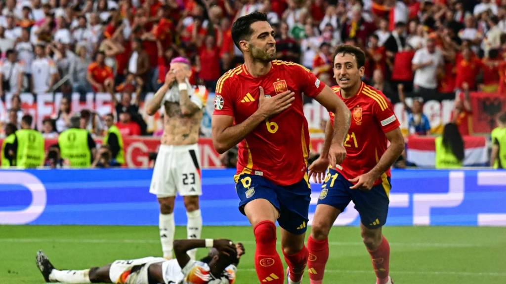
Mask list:
[{"label": "player in white kit lying on grass, hands on head", "polygon": [[[211,248],[200,261],[191,260],[187,252]],[[39,251],[36,264],[46,282],[117,283],[117,284],[233,284],[239,258],[244,254],[241,243],[220,240],[176,240],[176,259],[145,257],[116,260],[112,264],[85,270],[58,270]]]}]

